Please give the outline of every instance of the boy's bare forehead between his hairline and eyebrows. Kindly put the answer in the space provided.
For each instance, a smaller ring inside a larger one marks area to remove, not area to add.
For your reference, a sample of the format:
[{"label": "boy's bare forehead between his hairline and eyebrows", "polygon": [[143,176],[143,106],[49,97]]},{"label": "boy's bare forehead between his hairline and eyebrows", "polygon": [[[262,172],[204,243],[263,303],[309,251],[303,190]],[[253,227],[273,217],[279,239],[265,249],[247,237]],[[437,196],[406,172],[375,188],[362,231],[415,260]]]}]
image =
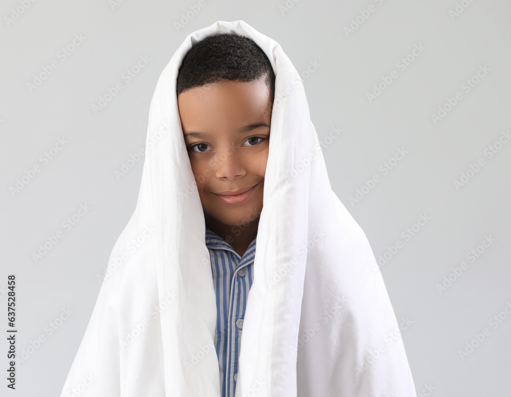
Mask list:
[{"label": "boy's bare forehead between his hairline and eyebrows", "polygon": [[183,131],[236,128],[271,118],[271,95],[263,80],[227,80],[185,91],[177,98]]}]

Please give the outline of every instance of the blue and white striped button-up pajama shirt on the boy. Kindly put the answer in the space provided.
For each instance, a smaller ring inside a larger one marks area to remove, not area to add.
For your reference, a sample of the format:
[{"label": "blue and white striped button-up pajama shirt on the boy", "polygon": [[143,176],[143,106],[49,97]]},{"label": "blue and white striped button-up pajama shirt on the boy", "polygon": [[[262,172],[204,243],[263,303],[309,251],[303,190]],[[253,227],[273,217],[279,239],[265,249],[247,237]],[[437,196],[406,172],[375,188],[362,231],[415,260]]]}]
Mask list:
[{"label": "blue and white striped button-up pajama shirt on the boy", "polygon": [[253,280],[255,236],[240,256],[227,241],[206,226],[206,247],[210,251],[213,284],[217,300],[215,348],[220,367],[222,397],[234,397],[238,374],[239,340],[248,291]]}]

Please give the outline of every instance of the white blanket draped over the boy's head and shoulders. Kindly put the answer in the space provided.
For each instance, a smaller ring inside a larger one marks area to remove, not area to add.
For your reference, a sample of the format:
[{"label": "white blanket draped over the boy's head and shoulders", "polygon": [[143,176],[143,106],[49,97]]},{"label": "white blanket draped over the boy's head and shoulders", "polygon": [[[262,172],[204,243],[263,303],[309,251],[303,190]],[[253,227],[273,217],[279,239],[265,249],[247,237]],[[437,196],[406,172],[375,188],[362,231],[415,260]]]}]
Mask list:
[{"label": "white blanket draped over the boy's head and shoulders", "polygon": [[215,289],[176,79],[197,41],[231,31],[251,37],[276,76],[236,397],[414,397],[383,278],[331,188],[300,76],[243,20],[189,34],[158,79],[136,208],[61,396],[220,397]]}]

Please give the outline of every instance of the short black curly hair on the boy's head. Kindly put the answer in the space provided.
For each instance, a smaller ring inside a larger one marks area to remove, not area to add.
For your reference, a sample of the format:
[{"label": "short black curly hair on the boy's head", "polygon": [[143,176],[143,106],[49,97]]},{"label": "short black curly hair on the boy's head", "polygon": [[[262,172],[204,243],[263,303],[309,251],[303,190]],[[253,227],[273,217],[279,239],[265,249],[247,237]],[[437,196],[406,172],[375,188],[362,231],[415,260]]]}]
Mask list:
[{"label": "short black curly hair on the boy's head", "polygon": [[253,81],[264,78],[271,97],[275,74],[266,54],[250,37],[229,33],[205,36],[183,57],[177,75],[177,96],[194,87],[223,79]]}]

